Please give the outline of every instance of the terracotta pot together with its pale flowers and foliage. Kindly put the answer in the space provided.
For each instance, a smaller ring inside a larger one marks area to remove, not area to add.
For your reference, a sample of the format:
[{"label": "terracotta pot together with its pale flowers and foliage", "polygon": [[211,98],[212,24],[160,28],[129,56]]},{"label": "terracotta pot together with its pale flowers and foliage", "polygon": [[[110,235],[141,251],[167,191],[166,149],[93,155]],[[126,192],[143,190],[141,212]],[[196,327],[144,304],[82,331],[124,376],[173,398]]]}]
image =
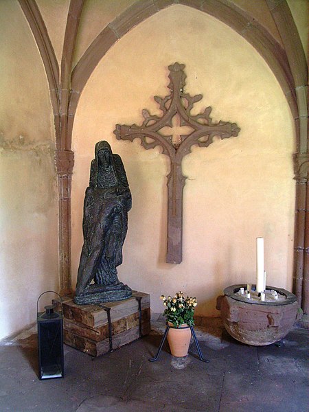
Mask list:
[{"label": "terracotta pot together with its pale flowers and foliage", "polygon": [[182,292],[174,297],[161,295],[165,310],[163,315],[168,321],[168,344],[173,356],[186,356],[189,350],[191,330],[194,325],[194,308],[197,305],[195,297],[184,297]]}]

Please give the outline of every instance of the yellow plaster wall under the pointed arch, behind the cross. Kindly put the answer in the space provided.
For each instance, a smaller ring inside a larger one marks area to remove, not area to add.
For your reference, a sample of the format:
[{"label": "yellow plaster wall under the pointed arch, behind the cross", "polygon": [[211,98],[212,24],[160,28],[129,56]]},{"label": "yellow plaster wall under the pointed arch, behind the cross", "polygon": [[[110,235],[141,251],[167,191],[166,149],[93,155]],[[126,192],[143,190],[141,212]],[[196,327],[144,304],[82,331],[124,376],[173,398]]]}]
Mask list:
[{"label": "yellow plaster wall under the pointed arch, behind the cross", "polygon": [[[238,137],[194,147],[183,160],[183,262],[165,263],[168,157],[135,140],[117,141],[115,124],[141,124],[141,109],[161,115],[168,65],[185,64],[185,91],[203,94],[214,121],[237,122]],[[73,128],[72,284],[82,248],[82,203],[97,141],[107,140],[126,168],[129,212],[119,279],[159,296],[183,290],[197,314],[217,316],[216,297],[255,282],[255,238],[264,237],[267,284],[292,289],[295,130],[284,94],[262,57],[236,32],[183,5],[158,12],[120,39],[96,67]]]}]

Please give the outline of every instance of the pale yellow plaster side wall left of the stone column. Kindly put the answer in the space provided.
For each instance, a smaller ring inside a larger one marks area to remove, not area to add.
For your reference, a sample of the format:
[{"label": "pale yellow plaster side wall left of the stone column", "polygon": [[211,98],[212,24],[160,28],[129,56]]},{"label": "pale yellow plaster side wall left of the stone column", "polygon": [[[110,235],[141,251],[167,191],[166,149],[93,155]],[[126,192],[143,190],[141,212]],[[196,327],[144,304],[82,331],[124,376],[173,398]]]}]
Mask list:
[{"label": "pale yellow plaster side wall left of the stone column", "polygon": [[58,290],[58,223],[47,79],[16,1],[0,1],[0,55],[2,339],[36,321],[43,291]]}]

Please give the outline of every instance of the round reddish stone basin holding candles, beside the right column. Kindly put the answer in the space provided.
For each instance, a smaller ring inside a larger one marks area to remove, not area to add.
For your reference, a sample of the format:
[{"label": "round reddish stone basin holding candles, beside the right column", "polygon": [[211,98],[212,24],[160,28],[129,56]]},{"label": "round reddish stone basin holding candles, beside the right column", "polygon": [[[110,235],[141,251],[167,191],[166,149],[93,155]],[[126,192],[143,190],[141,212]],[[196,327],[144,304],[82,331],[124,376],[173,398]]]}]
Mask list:
[{"label": "round reddish stone basin holding candles, beside the right column", "polygon": [[227,332],[254,346],[271,345],[284,338],[297,320],[296,296],[288,290],[266,286],[266,296],[275,290],[278,300],[260,301],[255,296],[247,299],[240,295],[240,288],[247,289],[247,284],[229,286],[224,290],[225,296],[218,299],[217,308]]}]

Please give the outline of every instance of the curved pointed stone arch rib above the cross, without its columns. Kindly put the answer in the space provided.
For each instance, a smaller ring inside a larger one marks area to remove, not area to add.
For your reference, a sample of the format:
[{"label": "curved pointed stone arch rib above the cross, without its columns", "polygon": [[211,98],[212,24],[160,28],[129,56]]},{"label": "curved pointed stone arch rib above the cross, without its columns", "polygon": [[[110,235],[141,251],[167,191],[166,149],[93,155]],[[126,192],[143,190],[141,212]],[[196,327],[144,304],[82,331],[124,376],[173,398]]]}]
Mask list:
[{"label": "curved pointed stone arch rib above the cross, without its columns", "polygon": [[[120,16],[109,23],[102,32],[84,52],[78,64],[72,72],[71,86],[72,94],[69,103],[69,115],[74,117],[78,101],[84,86],[86,85],[91,73],[98,65],[98,62],[124,34],[135,25],[141,23],[148,17],[156,14],[171,5],[182,4],[191,8],[196,8],[214,16],[216,19],[229,25],[240,36],[245,38],[266,60],[269,67],[275,74],[279,84],[286,95],[288,104],[294,117],[297,117],[297,102],[295,97],[295,83],[293,80],[286,52],[281,45],[267,32],[260,23],[252,19],[251,16],[237,8],[233,3],[225,0],[139,0],[128,9],[124,10]],[[73,122],[71,124],[73,128]],[[70,127],[68,133],[71,134]]]}]

